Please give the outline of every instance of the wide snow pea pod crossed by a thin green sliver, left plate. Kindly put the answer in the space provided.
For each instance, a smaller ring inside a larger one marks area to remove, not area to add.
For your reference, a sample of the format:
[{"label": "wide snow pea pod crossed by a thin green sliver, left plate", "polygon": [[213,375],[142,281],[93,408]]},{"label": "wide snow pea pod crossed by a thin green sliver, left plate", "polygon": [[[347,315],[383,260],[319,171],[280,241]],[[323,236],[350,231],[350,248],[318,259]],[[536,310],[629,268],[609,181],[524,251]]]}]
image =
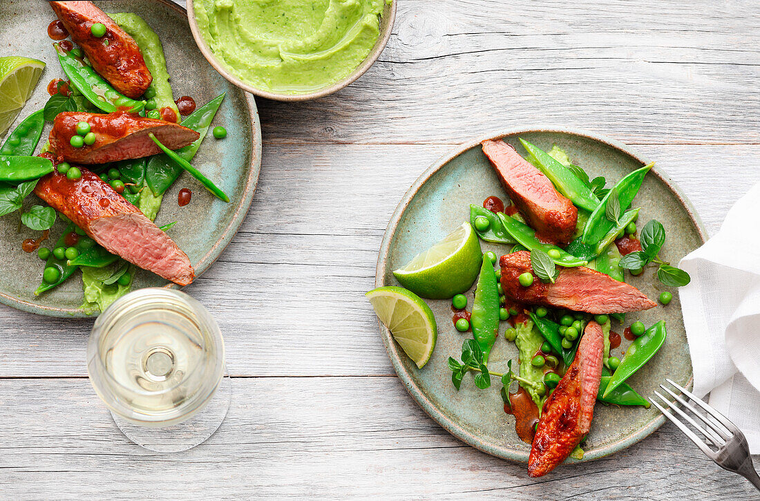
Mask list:
[{"label": "wide snow pea pod crossed by a thin green sliver, left plate", "polygon": [[[201,137],[175,151],[179,157],[188,162],[195,157],[195,152],[198,151],[201,141],[206,137],[206,132],[214,120],[214,116],[217,114],[217,109],[219,109],[223,99],[224,94],[220,94],[220,96],[215,97],[182,120],[182,126],[192,128]],[[177,180],[181,173],[182,167],[177,165],[167,155],[155,155],[148,160],[147,169],[145,170],[145,182],[147,182],[147,185],[156,196],[163,195],[163,192],[169,189],[169,186]]]}]

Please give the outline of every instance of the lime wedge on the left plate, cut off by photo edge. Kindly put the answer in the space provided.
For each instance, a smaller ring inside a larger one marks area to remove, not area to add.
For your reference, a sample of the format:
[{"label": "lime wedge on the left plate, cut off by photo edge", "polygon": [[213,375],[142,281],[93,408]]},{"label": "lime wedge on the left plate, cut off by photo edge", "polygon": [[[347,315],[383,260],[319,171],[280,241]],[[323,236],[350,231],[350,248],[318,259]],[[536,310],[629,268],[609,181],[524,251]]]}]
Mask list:
[{"label": "lime wedge on the left plate, cut off by photo edge", "polygon": [[21,112],[40,81],[45,63],[36,59],[8,55],[0,58],[0,137]]}]

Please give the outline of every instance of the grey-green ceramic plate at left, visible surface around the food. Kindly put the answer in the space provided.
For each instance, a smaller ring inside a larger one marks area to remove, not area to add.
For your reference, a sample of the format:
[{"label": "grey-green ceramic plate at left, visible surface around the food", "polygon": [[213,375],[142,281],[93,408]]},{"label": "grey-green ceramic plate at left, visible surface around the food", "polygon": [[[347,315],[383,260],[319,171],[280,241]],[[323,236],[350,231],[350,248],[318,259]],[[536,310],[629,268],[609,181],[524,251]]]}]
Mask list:
[{"label": "grey-green ceramic plate at left, visible surface around the food", "polygon": [[[62,78],[63,71],[47,36],[47,26],[55,14],[46,2],[39,8],[29,8],[24,0],[0,2],[0,55],[25,55],[46,62],[40,83],[24,106],[16,123],[41,109],[48,99],[46,87],[53,78]],[[106,12],[135,12],[150,24],[160,36],[166,53],[174,97],[190,96],[202,106],[226,92],[212,127],[224,125],[227,137],[217,141],[211,131],[201,144],[192,163],[214,180],[227,195],[230,203],[218,201],[188,173],[183,173],[166,192],[156,223],[177,221],[170,235],[184,250],[200,275],[219,257],[242,223],[253,199],[261,166],[261,130],[253,97],[245,94],[219,75],[201,55],[192,38],[185,10],[167,0],[124,0],[95,2]],[[13,125],[15,127],[16,124]],[[49,125],[43,132],[40,147],[46,141]],[[11,128],[12,130],[12,128]],[[39,149],[38,149],[39,151]],[[192,190],[192,201],[180,208],[177,194],[180,189]],[[31,195],[25,208],[40,204]],[[64,225],[59,221],[51,230],[55,241]],[[19,231],[17,213],[0,218],[0,301],[17,309],[49,316],[84,316],[81,275],[60,287],[34,296],[40,284],[43,263],[36,253],[21,251],[21,241],[40,236],[40,232],[22,227]],[[46,242],[49,246],[50,243]],[[148,271],[135,276],[134,289],[141,287],[170,287],[166,280]]]}]

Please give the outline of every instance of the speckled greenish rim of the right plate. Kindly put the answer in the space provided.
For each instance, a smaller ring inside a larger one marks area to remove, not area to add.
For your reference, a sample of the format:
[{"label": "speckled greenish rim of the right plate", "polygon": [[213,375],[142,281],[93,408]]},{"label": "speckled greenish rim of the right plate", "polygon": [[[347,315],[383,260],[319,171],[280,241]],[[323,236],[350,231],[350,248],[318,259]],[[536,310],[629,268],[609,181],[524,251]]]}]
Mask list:
[{"label": "speckled greenish rim of the right plate", "polygon": [[[386,266],[388,263],[388,256],[390,254],[391,242],[393,240],[394,233],[396,232],[404,211],[407,210],[407,207],[410,205],[417,192],[419,192],[420,188],[430,179],[434,173],[442,169],[442,167],[445,166],[450,160],[458,157],[465,151],[470,150],[470,148],[476,147],[482,141],[486,141],[486,139],[498,139],[508,135],[529,134],[535,132],[576,135],[581,138],[591,139],[593,141],[597,141],[602,144],[606,144],[607,146],[613,147],[616,150],[621,151],[623,154],[626,154],[629,157],[638,160],[642,166],[647,165],[651,162],[651,160],[648,160],[647,157],[644,157],[643,155],[632,151],[630,147],[622,144],[619,141],[615,141],[613,139],[606,138],[603,135],[598,135],[595,132],[579,128],[562,128],[556,126],[515,127],[501,129],[496,132],[484,134],[479,138],[462,144],[454,151],[451,151],[451,153],[444,155],[443,157],[439,158],[439,160],[436,160],[432,166],[430,166],[425,172],[422,173],[422,175],[420,175],[419,178],[416,179],[413,185],[411,185],[410,189],[408,189],[406,194],[404,194],[404,198],[401,199],[396,210],[391,216],[391,220],[388,222],[388,227],[385,230],[385,236],[383,236],[382,243],[380,245],[378,264],[375,270],[375,287],[389,285],[384,283],[383,277],[385,277],[386,274]],[[676,196],[683,207],[686,208],[686,212],[689,214],[692,223],[698,230],[701,241],[704,243],[707,239],[708,233],[707,230],[705,230],[705,225],[702,223],[701,218],[695,211],[691,201],[686,198],[686,195],[683,194],[681,189],[679,189],[679,187],[675,182],[673,182],[672,179],[670,179],[670,177],[663,173],[662,170],[657,168],[657,165],[655,165],[654,169],[651,170],[651,173],[656,176],[657,179],[663,183],[663,185],[667,186],[667,188],[673,192],[673,195]],[[385,328],[385,325],[383,325],[382,322],[378,321],[378,325],[380,327],[383,343],[385,344],[385,350],[388,352],[388,357],[391,359],[391,363],[393,363],[396,374],[398,375],[399,379],[401,379],[401,382],[404,383],[404,387],[407,388],[407,392],[409,392],[414,401],[416,401],[416,403],[420,405],[423,411],[432,417],[436,423],[439,423],[439,425],[448,431],[448,433],[451,433],[451,435],[457,437],[462,442],[467,443],[469,446],[473,446],[475,449],[486,452],[486,454],[496,456],[497,458],[509,459],[511,461],[527,462],[527,452],[516,452],[514,450],[505,449],[503,447],[495,446],[489,442],[486,442],[477,434],[470,433],[469,431],[465,430],[464,427],[456,423],[454,419],[441,411],[439,407],[436,407],[435,404],[430,401],[425,392],[423,392],[422,389],[415,384],[412,377],[410,376],[410,373],[407,372],[407,369],[402,362],[402,357],[406,357],[406,354],[404,354],[403,350],[401,350],[397,344],[394,343],[391,332],[388,331],[388,328]],[[694,378],[692,374],[692,376],[689,377],[687,386],[688,388],[692,387],[693,380]],[[652,433],[654,433],[654,431],[660,428],[663,423],[665,423],[665,417],[660,414],[656,419],[651,420],[646,426],[642,426],[629,436],[619,439],[616,442],[610,442],[605,446],[600,447],[599,449],[588,451],[584,455],[583,459],[568,459],[565,461],[565,464],[592,461],[594,459],[603,458],[604,456],[613,454],[614,452],[621,451],[622,449],[626,449],[636,442],[640,442],[641,440],[650,436]]]}]

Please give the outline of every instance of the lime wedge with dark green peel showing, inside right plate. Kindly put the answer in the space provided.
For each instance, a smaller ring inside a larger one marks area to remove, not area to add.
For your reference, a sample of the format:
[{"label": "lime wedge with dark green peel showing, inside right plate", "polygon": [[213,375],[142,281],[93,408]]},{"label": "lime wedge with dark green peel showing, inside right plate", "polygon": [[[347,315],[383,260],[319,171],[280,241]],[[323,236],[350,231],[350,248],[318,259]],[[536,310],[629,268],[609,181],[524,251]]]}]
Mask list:
[{"label": "lime wedge with dark green peel showing, inside right plate", "polygon": [[393,274],[413,293],[441,300],[472,287],[482,261],[477,234],[464,223]]}]

